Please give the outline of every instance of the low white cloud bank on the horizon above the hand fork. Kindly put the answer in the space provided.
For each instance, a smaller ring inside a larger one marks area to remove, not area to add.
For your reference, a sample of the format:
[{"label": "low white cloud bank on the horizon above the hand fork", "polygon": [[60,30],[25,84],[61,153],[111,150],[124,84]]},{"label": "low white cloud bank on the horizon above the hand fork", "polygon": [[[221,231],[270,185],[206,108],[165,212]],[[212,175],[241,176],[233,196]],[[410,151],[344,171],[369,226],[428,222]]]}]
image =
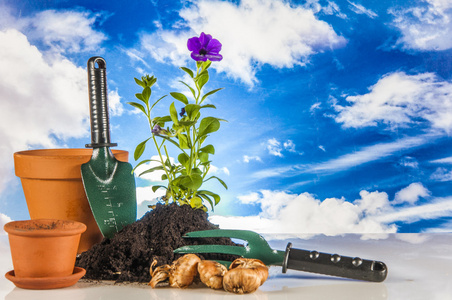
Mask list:
[{"label": "low white cloud bank on the horizon above the hand fork", "polygon": [[337,235],[396,232],[394,225],[374,220],[374,212],[382,211],[389,205],[385,193],[374,192],[374,194],[372,200],[379,197],[383,200],[375,202],[372,206],[365,199],[355,201],[355,203],[337,198],[321,201],[309,193],[294,195],[281,191],[263,190],[260,191],[260,197],[257,200],[255,194],[250,194],[253,202],[261,205],[262,212],[259,215],[248,217],[211,216],[210,220],[219,224],[221,228],[248,229],[264,234]]}]

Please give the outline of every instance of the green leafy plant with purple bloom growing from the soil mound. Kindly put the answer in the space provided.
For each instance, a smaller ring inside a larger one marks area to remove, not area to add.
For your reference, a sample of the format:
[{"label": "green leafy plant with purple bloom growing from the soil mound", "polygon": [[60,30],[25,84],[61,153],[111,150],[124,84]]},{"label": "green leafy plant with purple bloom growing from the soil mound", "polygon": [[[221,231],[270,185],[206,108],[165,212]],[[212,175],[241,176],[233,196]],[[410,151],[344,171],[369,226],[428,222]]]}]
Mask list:
[{"label": "green leafy plant with purple bloom growing from the soil mound", "polygon": [[[166,189],[165,196],[160,199],[165,204],[172,201],[179,205],[188,204],[193,208],[206,211],[207,207],[204,203],[207,202],[213,210],[214,206],[220,202],[220,196],[201,189],[201,187],[209,180],[217,180],[227,189],[223,180],[208,174],[211,168],[210,158],[215,154],[215,148],[212,144],[206,143],[208,136],[220,129],[220,121],[225,120],[212,116],[201,116],[201,113],[207,109],[216,109],[214,105],[204,104],[204,102],[207,97],[222,89],[203,93],[203,88],[209,81],[208,69],[212,63],[211,60],[222,59],[218,53],[221,44],[219,46],[218,44],[217,40],[204,33],[199,38],[194,37],[188,40],[188,48],[192,51],[191,56],[196,60],[196,70],[186,67],[181,67],[181,69],[193,80],[194,88],[181,81],[190,91],[190,96],[187,97],[179,92],[170,93],[175,100],[184,104],[180,113],[176,109],[175,102],[172,102],[169,106],[169,115],[153,117],[152,110],[166,95],[151,103],[152,86],[156,83],[157,78],[149,75],[141,77],[141,80],[135,78],[135,82],[143,88],[141,93],[135,95],[141,102],[129,102],[129,104],[146,115],[151,136],[138,144],[134,158],[139,160],[146,144],[151,141],[155,145],[159,157],[157,160],[141,160],[135,169],[146,163],[158,163],[157,166],[145,170],[139,176],[155,171],[164,172],[161,179],[168,181],[167,186],[154,185],[152,190],[155,192],[158,189]],[[179,154],[176,163],[170,160],[168,143],[178,149]]]}]

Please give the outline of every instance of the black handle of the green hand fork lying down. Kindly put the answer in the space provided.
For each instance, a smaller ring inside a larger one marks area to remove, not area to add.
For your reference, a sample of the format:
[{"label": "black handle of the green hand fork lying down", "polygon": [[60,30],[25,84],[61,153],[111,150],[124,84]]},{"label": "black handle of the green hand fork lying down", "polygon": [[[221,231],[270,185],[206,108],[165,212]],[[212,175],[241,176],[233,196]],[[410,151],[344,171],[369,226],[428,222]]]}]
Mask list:
[{"label": "black handle of the green hand fork lying down", "polygon": [[382,282],[388,275],[388,268],[383,262],[293,249],[292,243],[286,247],[283,273],[287,269],[373,282]]}]

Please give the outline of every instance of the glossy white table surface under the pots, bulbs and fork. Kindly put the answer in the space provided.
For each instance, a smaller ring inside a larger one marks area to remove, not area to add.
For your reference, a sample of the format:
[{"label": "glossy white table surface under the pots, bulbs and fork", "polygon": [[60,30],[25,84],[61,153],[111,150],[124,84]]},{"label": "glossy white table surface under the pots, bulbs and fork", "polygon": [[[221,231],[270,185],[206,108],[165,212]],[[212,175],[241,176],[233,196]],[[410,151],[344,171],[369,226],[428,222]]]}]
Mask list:
[{"label": "glossy white table surface under the pots, bulbs and fork", "polygon": [[[371,239],[368,239],[371,237]],[[268,237],[267,237],[268,238]],[[452,299],[452,233],[315,236],[309,239],[287,237],[269,240],[274,249],[294,248],[360,256],[386,263],[389,272],[382,283],[321,276],[306,272],[281,273],[271,267],[269,279],[255,293],[235,295],[201,285],[188,289],[145,284],[79,281],[72,287],[56,290],[25,290],[0,278],[0,299]],[[0,272],[12,269],[7,236],[0,236]]]}]

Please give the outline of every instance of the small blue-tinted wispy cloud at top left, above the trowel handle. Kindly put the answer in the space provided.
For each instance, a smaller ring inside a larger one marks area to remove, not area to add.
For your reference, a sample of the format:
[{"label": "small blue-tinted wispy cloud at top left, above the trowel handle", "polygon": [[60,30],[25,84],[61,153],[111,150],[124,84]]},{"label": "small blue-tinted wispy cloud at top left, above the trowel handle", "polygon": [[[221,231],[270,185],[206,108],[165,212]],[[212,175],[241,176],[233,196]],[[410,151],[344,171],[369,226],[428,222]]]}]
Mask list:
[{"label": "small blue-tinted wispy cloud at top left, above the trowel handle", "polygon": [[99,52],[105,34],[93,29],[101,14],[83,11],[46,10],[21,20],[29,37],[58,53]]}]

